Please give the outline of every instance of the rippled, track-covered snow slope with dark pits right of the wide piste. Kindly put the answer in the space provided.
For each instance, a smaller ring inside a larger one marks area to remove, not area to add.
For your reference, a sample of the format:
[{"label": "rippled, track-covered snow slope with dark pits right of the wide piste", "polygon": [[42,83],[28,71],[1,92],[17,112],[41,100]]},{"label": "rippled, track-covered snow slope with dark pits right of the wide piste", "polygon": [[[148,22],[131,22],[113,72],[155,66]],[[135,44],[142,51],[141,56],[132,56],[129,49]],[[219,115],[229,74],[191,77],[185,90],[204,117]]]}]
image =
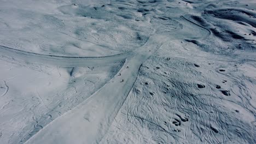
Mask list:
[{"label": "rippled, track-covered snow slope with dark pits right of the wide piste", "polygon": [[255,60],[180,43],[143,63],[101,143],[255,143],[255,78],[244,72]]}]

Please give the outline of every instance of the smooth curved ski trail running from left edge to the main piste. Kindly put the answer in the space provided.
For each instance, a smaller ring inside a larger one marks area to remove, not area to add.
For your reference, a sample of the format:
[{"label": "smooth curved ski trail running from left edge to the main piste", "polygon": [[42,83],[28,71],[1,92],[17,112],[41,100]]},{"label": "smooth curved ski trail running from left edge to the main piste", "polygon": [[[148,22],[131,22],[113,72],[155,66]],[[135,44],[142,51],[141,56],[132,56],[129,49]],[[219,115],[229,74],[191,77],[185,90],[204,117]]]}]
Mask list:
[{"label": "smooth curved ski trail running from left edge to the main piste", "polygon": [[62,67],[89,67],[119,62],[132,55],[132,52],[120,53],[112,56],[104,57],[68,57],[43,55],[34,52],[16,50],[11,47],[0,45],[0,53],[2,57],[11,56],[19,61],[43,63],[49,65],[60,65]]}]

